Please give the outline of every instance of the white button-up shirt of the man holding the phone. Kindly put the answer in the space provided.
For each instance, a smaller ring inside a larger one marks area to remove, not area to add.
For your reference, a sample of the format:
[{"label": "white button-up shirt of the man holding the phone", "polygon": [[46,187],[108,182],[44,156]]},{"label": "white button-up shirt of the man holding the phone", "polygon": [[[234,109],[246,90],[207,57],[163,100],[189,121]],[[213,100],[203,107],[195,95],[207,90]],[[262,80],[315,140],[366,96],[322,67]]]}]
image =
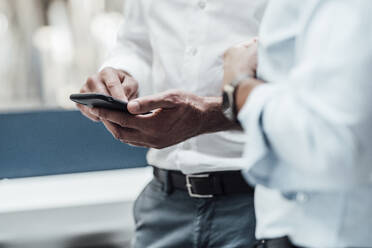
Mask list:
[{"label": "white button-up shirt of the man holding the phone", "polygon": [[[117,46],[103,67],[129,72],[142,95],[181,89],[219,96],[224,51],[258,34],[266,0],[127,0]],[[149,164],[182,172],[241,169],[241,132],[201,135],[148,153]]]}]

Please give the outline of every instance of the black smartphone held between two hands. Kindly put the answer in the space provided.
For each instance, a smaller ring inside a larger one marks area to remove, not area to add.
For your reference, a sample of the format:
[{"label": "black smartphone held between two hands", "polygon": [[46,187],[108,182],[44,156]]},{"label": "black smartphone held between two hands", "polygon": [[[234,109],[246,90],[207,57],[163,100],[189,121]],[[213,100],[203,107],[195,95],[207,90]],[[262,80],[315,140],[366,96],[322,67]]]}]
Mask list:
[{"label": "black smartphone held between two hands", "polygon": [[70,96],[70,100],[90,108],[105,108],[129,113],[127,109],[127,102],[103,94],[72,94]]}]

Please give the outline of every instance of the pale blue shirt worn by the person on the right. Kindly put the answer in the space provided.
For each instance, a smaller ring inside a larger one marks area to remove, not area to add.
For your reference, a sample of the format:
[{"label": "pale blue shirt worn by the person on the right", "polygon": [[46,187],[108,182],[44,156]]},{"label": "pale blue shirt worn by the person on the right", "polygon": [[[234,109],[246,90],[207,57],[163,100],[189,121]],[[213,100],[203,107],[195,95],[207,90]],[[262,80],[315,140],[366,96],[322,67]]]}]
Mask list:
[{"label": "pale blue shirt worn by the person on the right", "polygon": [[372,247],[372,1],[277,0],[240,112],[258,238]]}]

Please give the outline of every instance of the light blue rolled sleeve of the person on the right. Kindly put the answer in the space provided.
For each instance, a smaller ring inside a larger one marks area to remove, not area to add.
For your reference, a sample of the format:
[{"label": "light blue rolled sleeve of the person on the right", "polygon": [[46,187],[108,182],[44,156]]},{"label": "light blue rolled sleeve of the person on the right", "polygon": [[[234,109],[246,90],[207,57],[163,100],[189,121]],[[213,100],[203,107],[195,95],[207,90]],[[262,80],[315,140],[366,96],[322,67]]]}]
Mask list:
[{"label": "light blue rolled sleeve of the person on the right", "polygon": [[306,191],[372,182],[370,9],[371,1],[320,1],[288,76],[249,96],[238,118],[251,183]]}]

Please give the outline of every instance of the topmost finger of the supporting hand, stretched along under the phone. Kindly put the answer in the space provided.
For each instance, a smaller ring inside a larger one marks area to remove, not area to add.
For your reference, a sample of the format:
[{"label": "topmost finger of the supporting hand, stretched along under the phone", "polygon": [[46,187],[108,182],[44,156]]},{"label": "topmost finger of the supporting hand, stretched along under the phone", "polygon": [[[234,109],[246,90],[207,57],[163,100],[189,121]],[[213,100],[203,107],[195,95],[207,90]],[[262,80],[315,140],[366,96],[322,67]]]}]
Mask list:
[{"label": "topmost finger of the supporting hand, stretched along under the phone", "polygon": [[124,128],[142,130],[145,127],[145,118],[142,116],[133,116],[120,111],[112,111],[103,108],[93,108],[90,113],[102,121],[110,121]]}]

